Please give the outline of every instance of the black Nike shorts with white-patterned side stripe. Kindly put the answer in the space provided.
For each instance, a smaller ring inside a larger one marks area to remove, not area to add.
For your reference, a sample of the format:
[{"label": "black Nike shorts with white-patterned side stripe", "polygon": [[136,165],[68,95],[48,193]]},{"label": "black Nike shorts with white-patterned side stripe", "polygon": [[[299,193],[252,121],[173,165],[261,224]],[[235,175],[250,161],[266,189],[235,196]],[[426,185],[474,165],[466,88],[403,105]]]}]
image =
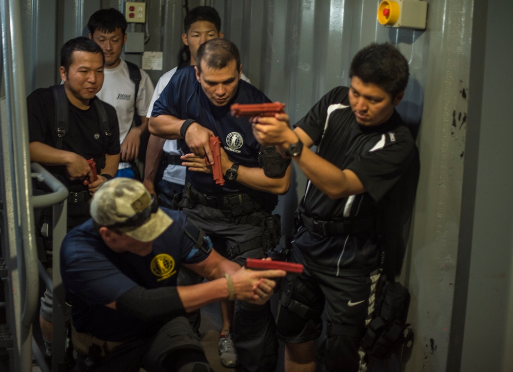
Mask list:
[{"label": "black Nike shorts with white-patterned side stripe", "polygon": [[[293,261],[293,260],[292,260]],[[365,364],[360,342],[372,318],[378,271],[364,276],[331,276],[305,268],[295,279],[290,300],[283,289],[277,317],[278,338],[287,343],[303,343],[321,336],[326,316],[326,339],[318,360],[328,371],[358,371]],[[286,306],[285,306],[286,305]]]}]

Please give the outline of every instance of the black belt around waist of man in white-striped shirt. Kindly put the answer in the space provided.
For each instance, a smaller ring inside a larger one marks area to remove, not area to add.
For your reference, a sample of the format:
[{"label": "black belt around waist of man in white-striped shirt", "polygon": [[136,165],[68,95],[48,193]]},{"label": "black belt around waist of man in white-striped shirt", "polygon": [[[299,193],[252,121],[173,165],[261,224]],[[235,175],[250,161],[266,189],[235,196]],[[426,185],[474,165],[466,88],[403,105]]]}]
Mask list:
[{"label": "black belt around waist of man in white-striped shirt", "polygon": [[361,234],[376,229],[376,219],[374,217],[343,221],[320,221],[300,214],[299,218],[305,228],[325,236]]}]

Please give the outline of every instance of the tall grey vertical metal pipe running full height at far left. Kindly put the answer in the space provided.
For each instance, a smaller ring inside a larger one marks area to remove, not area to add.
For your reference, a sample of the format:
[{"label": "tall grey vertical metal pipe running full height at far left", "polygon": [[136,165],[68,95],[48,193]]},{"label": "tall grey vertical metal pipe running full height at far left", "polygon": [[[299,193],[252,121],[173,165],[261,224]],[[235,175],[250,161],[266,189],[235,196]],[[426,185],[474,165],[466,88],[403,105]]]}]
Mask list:
[{"label": "tall grey vertical metal pipe running full height at far left", "polygon": [[[12,71],[12,80],[6,76],[6,92],[8,99],[8,108],[13,110],[12,115],[9,117],[9,125],[12,128],[12,143],[14,149],[11,158],[11,170],[14,174],[13,182],[17,195],[19,225],[21,228],[21,243],[19,245],[18,255],[23,253],[23,265],[20,266],[19,275],[24,275],[19,278],[22,282],[21,288],[23,290],[21,298],[22,317],[19,329],[19,355],[20,370],[30,371],[32,369],[32,329],[31,324],[34,319],[37,309],[37,288],[38,288],[38,275],[37,275],[37,253],[35,250],[35,237],[33,229],[33,215],[30,208],[30,199],[32,196],[32,189],[30,187],[30,158],[28,151],[28,125],[27,125],[27,111],[26,111],[26,92],[25,92],[25,71],[24,59],[22,50],[22,27],[21,27],[21,12],[19,2],[16,0],[9,0],[2,3],[2,25],[3,25],[3,40],[8,45],[4,48],[4,60],[8,61],[5,68],[10,68]],[[9,19],[6,18],[5,5],[8,5]],[[4,27],[9,25],[9,30]],[[6,53],[7,52],[7,53]],[[9,66],[10,65],[10,66]],[[9,97],[10,93],[12,94]],[[8,110],[9,111],[9,110]]]}]

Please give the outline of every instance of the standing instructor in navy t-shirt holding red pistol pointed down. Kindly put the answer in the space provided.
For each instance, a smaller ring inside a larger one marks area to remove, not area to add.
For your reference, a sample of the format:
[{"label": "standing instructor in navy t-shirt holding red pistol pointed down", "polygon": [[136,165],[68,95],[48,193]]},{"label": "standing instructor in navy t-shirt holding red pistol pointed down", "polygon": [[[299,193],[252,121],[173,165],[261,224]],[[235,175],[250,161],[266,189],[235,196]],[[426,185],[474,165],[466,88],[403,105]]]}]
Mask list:
[{"label": "standing instructor in navy t-shirt holding red pistol pointed down", "polygon": [[[230,106],[270,100],[240,80],[239,50],[226,39],[212,39],[196,54],[194,67],[177,71],[153,106],[150,133],[180,139],[187,166],[183,212],[226,256],[243,264],[246,257],[263,257],[281,235],[279,218],[271,214],[277,194],[290,186],[290,165],[270,177],[259,164],[261,146],[247,118],[231,116]],[[209,136],[221,140],[224,185],[216,184]],[[262,156],[267,156],[262,152]],[[230,304],[225,304],[228,308]],[[274,370],[278,342],[268,304],[235,301],[233,340],[238,359],[250,371]],[[225,312],[224,314],[229,314]],[[230,338],[230,317],[223,319],[222,337]],[[236,365],[234,360],[233,365]]]}]

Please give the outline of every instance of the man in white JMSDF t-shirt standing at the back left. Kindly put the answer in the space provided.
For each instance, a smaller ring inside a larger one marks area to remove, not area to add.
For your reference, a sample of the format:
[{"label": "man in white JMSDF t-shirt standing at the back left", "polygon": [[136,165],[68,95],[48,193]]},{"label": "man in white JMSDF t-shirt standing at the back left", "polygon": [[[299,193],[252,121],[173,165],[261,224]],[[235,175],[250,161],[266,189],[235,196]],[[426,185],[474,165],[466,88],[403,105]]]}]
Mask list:
[{"label": "man in white JMSDF t-shirt standing at the back left", "polygon": [[[87,27],[89,38],[105,55],[105,81],[96,96],[116,109],[120,125],[121,159],[117,176],[133,178],[130,163],[137,159],[144,138],[147,140],[146,114],[153,84],[144,70],[120,58],[127,39],[127,22],[123,14],[114,8],[100,9],[91,15]],[[136,116],[140,118],[139,126],[135,125],[139,121],[135,120]]]}]

